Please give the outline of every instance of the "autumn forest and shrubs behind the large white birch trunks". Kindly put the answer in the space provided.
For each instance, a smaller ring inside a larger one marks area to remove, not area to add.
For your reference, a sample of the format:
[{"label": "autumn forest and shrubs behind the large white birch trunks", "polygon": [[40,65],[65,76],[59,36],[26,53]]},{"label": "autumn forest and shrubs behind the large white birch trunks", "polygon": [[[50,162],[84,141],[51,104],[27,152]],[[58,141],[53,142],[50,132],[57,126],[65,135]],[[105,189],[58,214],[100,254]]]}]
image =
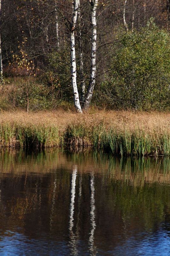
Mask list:
[{"label": "autumn forest and shrubs behind the large white birch trunks", "polygon": [[[170,1],[80,0],[77,9],[75,2],[2,0],[0,108],[73,108],[73,30],[77,87],[83,105],[91,79],[92,8],[96,4],[92,106],[169,110]],[[73,28],[75,10],[78,13]]]}]

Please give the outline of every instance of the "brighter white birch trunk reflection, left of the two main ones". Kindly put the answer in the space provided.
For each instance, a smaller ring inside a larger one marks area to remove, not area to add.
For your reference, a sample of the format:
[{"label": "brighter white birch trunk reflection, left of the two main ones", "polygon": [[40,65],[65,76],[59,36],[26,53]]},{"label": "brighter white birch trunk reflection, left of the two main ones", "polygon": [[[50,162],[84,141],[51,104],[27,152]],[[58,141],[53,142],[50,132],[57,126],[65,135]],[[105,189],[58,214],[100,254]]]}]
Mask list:
[{"label": "brighter white birch trunk reflection, left of the two main ones", "polygon": [[77,166],[74,166],[72,177],[71,177],[71,202],[70,202],[70,215],[69,215],[69,233],[70,233],[70,245],[71,252],[73,255],[78,255],[76,236],[73,233],[74,226],[74,201],[76,195],[76,177],[77,177]]}]

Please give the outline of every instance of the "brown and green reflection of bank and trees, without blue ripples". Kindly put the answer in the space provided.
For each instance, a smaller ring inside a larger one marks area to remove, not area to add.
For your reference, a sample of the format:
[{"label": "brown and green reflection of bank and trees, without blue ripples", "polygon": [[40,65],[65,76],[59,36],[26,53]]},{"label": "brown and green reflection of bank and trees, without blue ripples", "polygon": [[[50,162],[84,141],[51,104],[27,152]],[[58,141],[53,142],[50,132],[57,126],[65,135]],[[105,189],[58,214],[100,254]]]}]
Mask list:
[{"label": "brown and green reflection of bank and trees, without blue ripples", "polygon": [[107,242],[116,243],[117,234],[128,237],[136,226],[152,231],[155,223],[169,221],[169,158],[44,154],[2,154],[2,233],[19,227],[28,237],[43,233],[59,240],[69,232],[73,255],[81,254],[82,241],[95,255],[99,234],[106,238],[103,227]]}]

